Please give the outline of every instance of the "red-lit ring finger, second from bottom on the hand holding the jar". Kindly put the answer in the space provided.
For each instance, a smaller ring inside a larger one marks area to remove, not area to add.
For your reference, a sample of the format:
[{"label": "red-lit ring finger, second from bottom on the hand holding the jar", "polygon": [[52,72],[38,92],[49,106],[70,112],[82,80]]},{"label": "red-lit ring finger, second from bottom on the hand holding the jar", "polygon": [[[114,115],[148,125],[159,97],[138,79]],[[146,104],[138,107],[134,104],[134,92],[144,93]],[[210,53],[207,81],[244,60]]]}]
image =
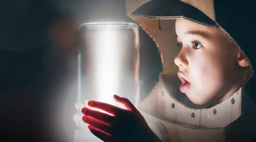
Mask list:
[{"label": "red-lit ring finger, second from bottom on the hand holding the jar", "polygon": [[103,123],[94,118],[90,118],[89,116],[86,116],[86,115],[83,116],[82,120],[85,123],[91,125],[92,127],[95,127],[98,130],[101,130],[101,131],[109,133],[109,134],[111,133],[111,126],[109,124]]}]

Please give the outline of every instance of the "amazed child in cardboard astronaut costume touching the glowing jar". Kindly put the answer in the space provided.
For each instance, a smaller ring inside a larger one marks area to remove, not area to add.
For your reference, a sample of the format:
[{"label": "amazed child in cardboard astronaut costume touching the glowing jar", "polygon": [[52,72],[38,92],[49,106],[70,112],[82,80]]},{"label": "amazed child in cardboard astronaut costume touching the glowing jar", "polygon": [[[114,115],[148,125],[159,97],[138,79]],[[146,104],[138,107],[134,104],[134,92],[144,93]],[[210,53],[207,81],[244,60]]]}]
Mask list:
[{"label": "amazed child in cardboard astronaut costume touching the glowing jar", "polygon": [[230,3],[218,0],[126,3],[128,16],[155,41],[164,71],[141,111],[117,95],[126,110],[89,101],[89,107],[113,114],[83,108],[90,131],[105,142],[254,141],[256,107],[244,93],[254,75],[252,22],[235,20],[248,16],[252,4],[233,1],[228,9]]}]

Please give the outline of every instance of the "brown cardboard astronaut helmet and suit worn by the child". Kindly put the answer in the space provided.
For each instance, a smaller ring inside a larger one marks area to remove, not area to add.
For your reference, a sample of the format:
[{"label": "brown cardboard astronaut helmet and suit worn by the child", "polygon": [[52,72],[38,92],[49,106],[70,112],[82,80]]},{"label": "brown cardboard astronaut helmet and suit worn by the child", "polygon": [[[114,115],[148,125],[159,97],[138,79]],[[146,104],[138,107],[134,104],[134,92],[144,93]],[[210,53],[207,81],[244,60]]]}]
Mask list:
[{"label": "brown cardboard astronaut helmet and suit worn by the child", "polygon": [[[178,67],[174,64],[180,52],[175,47],[175,19],[185,18],[205,26],[222,28],[249,60],[254,76],[252,66],[256,62],[251,60],[253,53],[248,48],[248,41],[254,41],[250,36],[250,27],[253,26],[249,14],[252,9],[241,10],[241,7],[252,4],[250,1],[243,3],[223,0],[126,0],[127,15],[154,40],[160,53],[163,71],[159,75],[159,83],[142,101],[140,110],[163,142],[249,142],[256,139],[256,107],[250,96],[244,95],[244,87],[218,105],[199,108],[180,93]],[[238,20],[239,17],[248,18],[243,21]],[[247,42],[242,38],[245,36]]]}]

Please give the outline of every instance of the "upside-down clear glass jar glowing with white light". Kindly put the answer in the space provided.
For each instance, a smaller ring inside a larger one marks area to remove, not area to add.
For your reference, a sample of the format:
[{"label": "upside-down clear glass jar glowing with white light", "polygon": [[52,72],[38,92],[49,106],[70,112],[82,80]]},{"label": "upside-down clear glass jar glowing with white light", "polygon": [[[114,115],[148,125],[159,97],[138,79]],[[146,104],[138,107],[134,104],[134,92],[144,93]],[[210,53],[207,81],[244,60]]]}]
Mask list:
[{"label": "upside-down clear glass jar glowing with white light", "polygon": [[[79,44],[79,106],[86,106],[85,100],[118,106],[113,99],[116,94],[128,98],[139,109],[138,25],[124,22],[81,24]],[[76,142],[101,141],[81,126],[79,135]]]}]

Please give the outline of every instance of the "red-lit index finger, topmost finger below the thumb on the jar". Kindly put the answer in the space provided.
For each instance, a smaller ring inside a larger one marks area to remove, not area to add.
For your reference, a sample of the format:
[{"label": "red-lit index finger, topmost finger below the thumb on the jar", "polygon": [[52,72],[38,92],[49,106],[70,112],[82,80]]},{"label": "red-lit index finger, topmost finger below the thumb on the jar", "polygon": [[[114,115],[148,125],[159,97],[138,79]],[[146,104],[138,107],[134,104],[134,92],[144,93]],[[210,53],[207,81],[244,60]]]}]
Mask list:
[{"label": "red-lit index finger, topmost finger below the thumb on the jar", "polygon": [[107,104],[107,103],[102,103],[102,102],[97,102],[95,100],[90,100],[88,102],[89,107],[93,107],[93,108],[97,108],[97,109],[101,109],[103,111],[106,111],[107,113],[116,115],[121,108],[118,108],[114,105],[111,104]]}]

